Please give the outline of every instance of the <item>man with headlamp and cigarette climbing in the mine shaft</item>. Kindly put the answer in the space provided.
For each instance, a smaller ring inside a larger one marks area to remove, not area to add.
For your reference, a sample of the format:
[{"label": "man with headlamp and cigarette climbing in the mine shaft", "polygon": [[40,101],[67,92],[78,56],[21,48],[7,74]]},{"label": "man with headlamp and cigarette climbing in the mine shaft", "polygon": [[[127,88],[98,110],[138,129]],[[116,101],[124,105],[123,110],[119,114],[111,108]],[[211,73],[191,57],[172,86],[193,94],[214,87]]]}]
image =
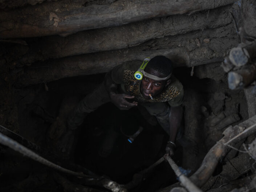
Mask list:
[{"label": "man with headlamp and cigarette climbing in the mine shaft", "polygon": [[116,66],[69,115],[68,132],[71,134],[88,113],[107,102],[112,102],[120,110],[142,105],[170,135],[166,155],[174,155],[176,141],[179,140],[181,145],[187,142],[179,134],[184,91],[172,74],[173,68],[172,61],[165,56],[147,57],[141,66],[132,62]]}]

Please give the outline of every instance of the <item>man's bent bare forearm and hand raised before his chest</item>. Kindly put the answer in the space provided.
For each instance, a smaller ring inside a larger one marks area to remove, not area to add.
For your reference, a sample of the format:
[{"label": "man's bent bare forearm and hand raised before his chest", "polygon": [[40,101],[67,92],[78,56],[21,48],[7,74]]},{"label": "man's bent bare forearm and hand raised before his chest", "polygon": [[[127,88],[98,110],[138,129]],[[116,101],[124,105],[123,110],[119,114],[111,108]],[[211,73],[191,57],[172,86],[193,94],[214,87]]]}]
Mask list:
[{"label": "man's bent bare forearm and hand raised before his chest", "polygon": [[126,98],[132,99],[134,96],[117,93],[118,84],[112,80],[111,72],[106,74],[104,83],[107,93],[109,94],[110,101],[114,103],[114,105],[117,106],[120,110],[128,110],[138,105],[138,103],[135,101],[130,103],[126,100]]}]

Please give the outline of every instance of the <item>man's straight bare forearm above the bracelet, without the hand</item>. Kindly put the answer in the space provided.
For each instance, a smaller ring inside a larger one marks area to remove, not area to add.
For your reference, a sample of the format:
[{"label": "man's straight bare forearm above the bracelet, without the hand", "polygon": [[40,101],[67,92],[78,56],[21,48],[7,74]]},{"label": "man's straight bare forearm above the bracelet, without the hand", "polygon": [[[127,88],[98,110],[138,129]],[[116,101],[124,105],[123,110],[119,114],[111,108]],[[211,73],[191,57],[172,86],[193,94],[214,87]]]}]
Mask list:
[{"label": "man's straight bare forearm above the bracelet, without the hand", "polygon": [[169,123],[170,123],[170,138],[169,141],[175,143],[182,120],[182,106],[170,107]]}]

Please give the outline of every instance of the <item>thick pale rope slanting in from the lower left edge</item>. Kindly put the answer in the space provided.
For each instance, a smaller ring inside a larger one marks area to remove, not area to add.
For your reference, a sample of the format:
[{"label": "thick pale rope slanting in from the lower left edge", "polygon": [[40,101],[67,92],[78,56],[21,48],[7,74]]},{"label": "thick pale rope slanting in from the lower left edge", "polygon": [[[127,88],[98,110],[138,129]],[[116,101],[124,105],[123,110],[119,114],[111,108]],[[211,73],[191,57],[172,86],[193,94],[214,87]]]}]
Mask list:
[{"label": "thick pale rope slanting in from the lower left edge", "polygon": [[99,176],[89,176],[89,175],[84,175],[83,173],[78,173],[78,172],[74,172],[71,171],[69,169],[65,169],[61,166],[58,166],[50,161],[48,161],[47,159],[42,158],[40,155],[37,155],[35,152],[29,150],[27,147],[24,147],[23,145],[21,145],[20,143],[16,142],[15,140],[9,138],[8,136],[3,135],[2,133],[0,133],[0,143],[8,146],[10,148],[12,148],[13,150],[37,161],[40,162],[48,167],[54,168],[58,171],[64,172],[64,173],[68,173],[70,175],[74,175],[74,176],[78,176],[78,177],[89,177],[89,178],[101,178]]}]

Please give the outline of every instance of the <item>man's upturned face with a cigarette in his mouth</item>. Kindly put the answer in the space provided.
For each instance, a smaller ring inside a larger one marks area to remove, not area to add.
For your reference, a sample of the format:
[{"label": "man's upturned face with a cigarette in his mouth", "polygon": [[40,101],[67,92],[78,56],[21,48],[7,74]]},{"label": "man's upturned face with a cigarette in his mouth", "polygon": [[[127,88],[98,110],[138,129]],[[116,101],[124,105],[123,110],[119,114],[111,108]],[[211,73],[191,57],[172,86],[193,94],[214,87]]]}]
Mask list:
[{"label": "man's upturned face with a cigarette in his mouth", "polygon": [[[157,77],[164,77],[162,73],[159,73],[158,71],[146,68],[145,71],[149,74],[155,75]],[[143,77],[141,80],[141,94],[145,99],[150,99],[149,94],[154,98],[155,96],[159,95],[164,87],[168,86],[170,84],[170,80],[154,80],[149,77]]]}]

